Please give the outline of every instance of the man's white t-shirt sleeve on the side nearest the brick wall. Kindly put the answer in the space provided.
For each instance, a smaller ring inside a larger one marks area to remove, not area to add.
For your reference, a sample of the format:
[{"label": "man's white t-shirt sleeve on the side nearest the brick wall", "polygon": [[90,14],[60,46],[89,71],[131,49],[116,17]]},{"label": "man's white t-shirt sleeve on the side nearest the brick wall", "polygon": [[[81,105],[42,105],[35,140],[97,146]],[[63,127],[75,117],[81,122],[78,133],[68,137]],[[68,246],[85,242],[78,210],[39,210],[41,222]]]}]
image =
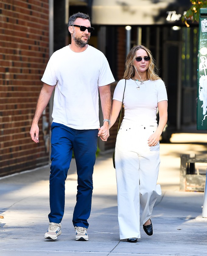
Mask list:
[{"label": "man's white t-shirt sleeve on the side nearest the brick wall", "polygon": [[50,57],[46,69],[44,71],[43,77],[41,79],[41,81],[43,83],[47,83],[49,85],[56,85],[57,80],[56,80],[56,76],[55,76],[55,56],[54,54],[52,54],[52,56]]}]

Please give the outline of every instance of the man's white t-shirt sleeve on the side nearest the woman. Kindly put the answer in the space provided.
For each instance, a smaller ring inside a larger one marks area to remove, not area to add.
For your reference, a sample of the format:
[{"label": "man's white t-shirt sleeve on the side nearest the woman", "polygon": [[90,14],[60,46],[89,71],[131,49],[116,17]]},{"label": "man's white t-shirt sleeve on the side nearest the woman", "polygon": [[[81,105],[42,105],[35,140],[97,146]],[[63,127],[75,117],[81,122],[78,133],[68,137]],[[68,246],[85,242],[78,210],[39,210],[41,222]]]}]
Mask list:
[{"label": "man's white t-shirt sleeve on the side nearest the woman", "polygon": [[114,81],[114,76],[112,75],[107,58],[103,55],[103,63],[99,73],[98,86],[104,86],[113,83]]}]

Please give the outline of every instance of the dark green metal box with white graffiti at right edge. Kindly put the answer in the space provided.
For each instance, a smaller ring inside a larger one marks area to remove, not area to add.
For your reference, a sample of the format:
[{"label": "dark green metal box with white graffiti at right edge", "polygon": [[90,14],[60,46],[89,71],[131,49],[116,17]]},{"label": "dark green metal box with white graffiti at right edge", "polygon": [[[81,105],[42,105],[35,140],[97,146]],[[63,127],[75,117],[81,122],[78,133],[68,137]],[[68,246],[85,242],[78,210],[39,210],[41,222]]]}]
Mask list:
[{"label": "dark green metal box with white graffiti at right edge", "polygon": [[207,9],[200,9],[197,130],[207,130]]}]

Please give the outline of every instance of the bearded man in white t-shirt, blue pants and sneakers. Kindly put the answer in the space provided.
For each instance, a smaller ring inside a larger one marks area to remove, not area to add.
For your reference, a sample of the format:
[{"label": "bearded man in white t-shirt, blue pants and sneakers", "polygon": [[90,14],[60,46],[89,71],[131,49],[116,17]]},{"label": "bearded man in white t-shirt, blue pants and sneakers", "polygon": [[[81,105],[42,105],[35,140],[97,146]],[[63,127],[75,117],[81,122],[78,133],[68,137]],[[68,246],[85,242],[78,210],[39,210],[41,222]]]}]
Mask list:
[{"label": "bearded man in white t-shirt, blue pants and sneakers", "polygon": [[[72,222],[75,239],[88,241],[87,219],[91,211],[97,137],[101,135],[101,139],[106,141],[109,136],[110,83],[114,82],[114,77],[104,54],[87,44],[93,31],[89,16],[73,14],[68,21],[68,30],[71,44],[52,54],[41,79],[44,84],[37,100],[30,135],[34,142],[39,142],[38,121],[55,88],[51,124],[51,211],[44,238],[56,240],[61,234],[65,180],[73,150],[78,187]],[[98,89],[103,111],[101,127]]]}]

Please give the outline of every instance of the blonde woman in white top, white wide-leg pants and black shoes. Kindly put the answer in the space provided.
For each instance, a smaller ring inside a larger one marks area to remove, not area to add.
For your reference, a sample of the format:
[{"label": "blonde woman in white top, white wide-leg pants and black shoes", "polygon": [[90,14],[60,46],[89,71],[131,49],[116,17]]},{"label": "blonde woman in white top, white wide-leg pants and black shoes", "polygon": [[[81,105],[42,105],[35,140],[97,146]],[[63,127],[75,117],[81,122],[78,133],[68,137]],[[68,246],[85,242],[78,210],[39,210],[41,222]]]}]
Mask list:
[{"label": "blonde woman in white top, white wide-leg pants and black shoes", "polygon": [[150,217],[156,199],[161,196],[160,185],[156,183],[159,139],[167,123],[167,92],[154,72],[152,54],[145,46],[133,47],[125,66],[124,79],[114,91],[110,128],[118,117],[124,93],[125,115],[115,147],[118,222],[120,239],[137,242],[141,238],[140,225],[147,235],[153,234]]}]

